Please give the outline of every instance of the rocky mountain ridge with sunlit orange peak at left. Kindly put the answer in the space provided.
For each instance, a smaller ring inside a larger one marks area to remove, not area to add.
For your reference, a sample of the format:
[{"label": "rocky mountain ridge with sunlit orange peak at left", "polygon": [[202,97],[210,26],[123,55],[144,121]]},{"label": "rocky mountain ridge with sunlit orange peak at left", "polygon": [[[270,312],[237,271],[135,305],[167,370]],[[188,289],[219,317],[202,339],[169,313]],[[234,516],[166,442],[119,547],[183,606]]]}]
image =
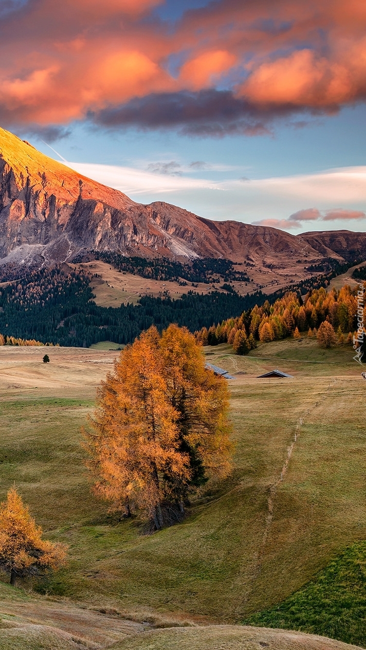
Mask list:
[{"label": "rocky mountain ridge with sunlit orange peak at left", "polygon": [[306,276],[324,257],[366,257],[366,233],[290,235],[214,222],[174,205],[142,205],[0,129],[0,265],[71,261],[84,250],[174,259],[226,257]]}]

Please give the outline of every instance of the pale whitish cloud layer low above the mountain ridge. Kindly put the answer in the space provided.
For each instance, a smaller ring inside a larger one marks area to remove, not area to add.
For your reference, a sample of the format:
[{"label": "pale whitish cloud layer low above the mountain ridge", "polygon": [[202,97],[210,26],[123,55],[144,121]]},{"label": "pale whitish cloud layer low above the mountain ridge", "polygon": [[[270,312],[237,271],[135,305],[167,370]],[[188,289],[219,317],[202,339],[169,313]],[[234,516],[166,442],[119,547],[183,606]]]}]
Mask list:
[{"label": "pale whitish cloud layer low above the mountain ridge", "polygon": [[[99,183],[128,194],[135,201],[168,201],[209,219],[232,219],[294,233],[309,229],[364,231],[366,228],[366,167],[242,182],[237,178],[218,181],[192,177],[195,169],[198,175],[202,170],[210,175],[205,163],[197,162],[195,167],[195,162],[144,161],[143,168],[66,164]],[[231,169],[231,174],[239,175],[239,172]],[[316,201],[317,207],[296,210],[298,205],[308,203],[309,196]]]}]

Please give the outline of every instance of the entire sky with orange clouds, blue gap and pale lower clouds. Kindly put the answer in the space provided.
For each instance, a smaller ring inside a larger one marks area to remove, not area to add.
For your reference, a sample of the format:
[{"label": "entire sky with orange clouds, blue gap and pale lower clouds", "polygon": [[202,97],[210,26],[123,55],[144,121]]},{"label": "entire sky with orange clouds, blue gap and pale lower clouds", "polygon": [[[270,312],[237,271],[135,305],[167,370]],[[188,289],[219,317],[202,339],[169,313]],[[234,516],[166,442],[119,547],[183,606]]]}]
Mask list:
[{"label": "entire sky with orange clouds, blue gap and pale lower clouds", "polygon": [[365,0],[0,0],[0,125],[135,201],[366,230]]}]

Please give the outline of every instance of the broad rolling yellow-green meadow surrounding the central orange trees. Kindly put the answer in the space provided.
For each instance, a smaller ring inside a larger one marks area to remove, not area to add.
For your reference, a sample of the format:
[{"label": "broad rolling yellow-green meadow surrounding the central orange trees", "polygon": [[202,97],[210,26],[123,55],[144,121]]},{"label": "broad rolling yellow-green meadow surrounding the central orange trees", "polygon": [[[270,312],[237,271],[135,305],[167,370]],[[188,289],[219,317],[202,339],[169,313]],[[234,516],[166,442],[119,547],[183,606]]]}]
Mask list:
[{"label": "broad rolling yellow-green meadow surrounding the central orange trees", "polygon": [[[96,385],[118,353],[50,348],[43,364],[44,348],[0,348],[1,497],[15,480],[46,535],[70,544],[68,568],[38,582],[38,591],[137,621],[239,623],[289,603],[366,539],[366,382],[352,349],[320,350],[304,339],[262,344],[246,357],[227,345],[205,352],[239,373],[229,382],[233,474],[196,497],[184,523],[146,536],[92,496],[80,446]],[[257,379],[277,366],[293,378]],[[0,592],[0,612],[10,612],[9,593]],[[285,624],[296,627],[286,611]],[[276,617],[257,621],[281,627]],[[154,639],[136,647],[176,647]],[[260,647],[240,643],[225,647]]]}]

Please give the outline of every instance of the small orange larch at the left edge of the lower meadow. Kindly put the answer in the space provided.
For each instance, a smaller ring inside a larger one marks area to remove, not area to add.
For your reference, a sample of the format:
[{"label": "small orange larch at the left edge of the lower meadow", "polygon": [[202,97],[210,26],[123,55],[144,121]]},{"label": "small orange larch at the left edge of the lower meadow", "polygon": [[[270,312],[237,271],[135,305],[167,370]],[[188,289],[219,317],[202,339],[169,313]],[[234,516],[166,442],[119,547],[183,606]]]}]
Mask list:
[{"label": "small orange larch at the left edge of the lower meadow", "polygon": [[12,487],[0,508],[0,567],[10,572],[10,584],[14,586],[17,578],[64,566],[67,548],[42,539],[42,528]]}]

